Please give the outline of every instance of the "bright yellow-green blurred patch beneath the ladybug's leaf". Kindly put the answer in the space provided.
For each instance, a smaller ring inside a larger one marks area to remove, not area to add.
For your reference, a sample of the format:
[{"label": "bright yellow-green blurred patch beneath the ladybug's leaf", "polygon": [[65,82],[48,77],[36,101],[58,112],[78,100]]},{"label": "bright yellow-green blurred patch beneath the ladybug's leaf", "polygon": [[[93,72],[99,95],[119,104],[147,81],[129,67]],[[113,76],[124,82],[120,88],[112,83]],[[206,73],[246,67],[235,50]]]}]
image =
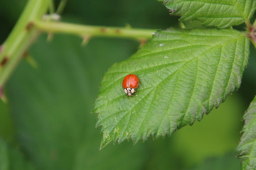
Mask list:
[{"label": "bright yellow-green blurred patch beneath the ladybug's leaf", "polygon": [[206,157],[234,151],[238,146],[241,125],[238,120],[242,112],[238,96],[228,97],[201,122],[186,126],[174,134],[175,152],[185,158],[187,164],[193,165]]}]

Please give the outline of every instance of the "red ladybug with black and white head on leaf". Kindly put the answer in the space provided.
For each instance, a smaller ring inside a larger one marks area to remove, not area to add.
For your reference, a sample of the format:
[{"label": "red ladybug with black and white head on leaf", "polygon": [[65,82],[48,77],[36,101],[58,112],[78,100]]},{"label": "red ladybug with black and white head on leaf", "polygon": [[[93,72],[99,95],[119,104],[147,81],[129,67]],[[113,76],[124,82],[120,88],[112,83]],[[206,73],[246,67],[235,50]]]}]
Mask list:
[{"label": "red ladybug with black and white head on leaf", "polygon": [[124,77],[123,80],[123,88],[125,94],[128,96],[132,96],[132,94],[136,94],[135,89],[139,86],[139,78],[134,74],[129,74]]}]

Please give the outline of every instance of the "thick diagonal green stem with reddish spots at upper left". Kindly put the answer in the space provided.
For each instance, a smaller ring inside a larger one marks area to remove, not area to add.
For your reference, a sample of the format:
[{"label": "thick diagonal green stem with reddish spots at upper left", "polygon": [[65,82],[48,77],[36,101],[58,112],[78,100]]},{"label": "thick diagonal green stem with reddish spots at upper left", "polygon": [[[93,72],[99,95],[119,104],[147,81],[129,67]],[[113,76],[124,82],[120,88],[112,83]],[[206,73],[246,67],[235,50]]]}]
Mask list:
[{"label": "thick diagonal green stem with reddish spots at upper left", "polygon": [[29,0],[21,18],[11,31],[11,34],[2,45],[0,53],[0,88],[3,88],[6,80],[18,62],[23,57],[23,53],[28,50],[33,40],[38,35],[38,30],[31,28],[31,21],[41,20],[41,17],[48,10],[49,0]]}]

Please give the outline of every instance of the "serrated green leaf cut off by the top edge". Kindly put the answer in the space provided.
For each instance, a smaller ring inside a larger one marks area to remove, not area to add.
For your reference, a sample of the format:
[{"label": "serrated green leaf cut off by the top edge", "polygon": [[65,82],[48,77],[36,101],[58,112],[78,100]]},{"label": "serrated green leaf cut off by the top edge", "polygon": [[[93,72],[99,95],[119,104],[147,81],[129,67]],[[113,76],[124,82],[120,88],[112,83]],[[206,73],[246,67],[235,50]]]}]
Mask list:
[{"label": "serrated green leaf cut off by the top edge", "polygon": [[255,0],[164,0],[181,21],[201,21],[206,26],[228,28],[249,21],[256,9]]}]

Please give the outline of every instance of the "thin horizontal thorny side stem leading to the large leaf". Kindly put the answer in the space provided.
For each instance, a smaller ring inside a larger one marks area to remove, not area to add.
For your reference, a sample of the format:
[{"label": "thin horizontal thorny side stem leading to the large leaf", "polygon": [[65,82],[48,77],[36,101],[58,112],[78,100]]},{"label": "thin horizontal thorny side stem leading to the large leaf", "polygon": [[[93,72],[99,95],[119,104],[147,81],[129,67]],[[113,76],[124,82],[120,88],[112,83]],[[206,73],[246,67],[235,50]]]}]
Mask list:
[{"label": "thin horizontal thorny side stem leading to the large leaf", "polygon": [[84,26],[73,23],[36,21],[33,26],[48,33],[68,33],[83,37],[116,37],[136,40],[149,39],[156,30],[137,28],[115,28],[103,26]]}]

